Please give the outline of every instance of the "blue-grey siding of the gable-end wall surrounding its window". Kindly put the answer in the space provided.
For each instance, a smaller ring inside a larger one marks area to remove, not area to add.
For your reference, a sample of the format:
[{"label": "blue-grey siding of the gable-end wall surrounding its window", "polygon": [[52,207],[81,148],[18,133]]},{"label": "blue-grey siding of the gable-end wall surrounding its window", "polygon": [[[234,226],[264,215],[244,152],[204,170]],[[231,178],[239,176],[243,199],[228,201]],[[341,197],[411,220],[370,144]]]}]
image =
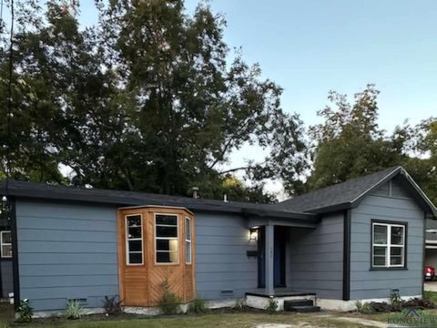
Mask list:
[{"label": "blue-grey siding of the gable-end wall surrounding its window", "polygon": [[[400,190],[391,195],[377,190],[351,210],[351,300],[389,297],[392,289],[401,296],[422,294],[423,210],[414,200],[398,197],[408,196]],[[408,223],[407,270],[371,271],[372,219]]]}]

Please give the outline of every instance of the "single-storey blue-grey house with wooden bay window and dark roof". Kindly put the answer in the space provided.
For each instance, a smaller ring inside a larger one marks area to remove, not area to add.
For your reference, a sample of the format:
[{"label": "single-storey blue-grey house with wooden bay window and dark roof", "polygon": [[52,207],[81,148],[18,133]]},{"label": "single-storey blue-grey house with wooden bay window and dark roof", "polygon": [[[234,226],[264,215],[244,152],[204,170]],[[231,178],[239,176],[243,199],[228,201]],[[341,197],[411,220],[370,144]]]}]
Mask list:
[{"label": "single-storey blue-grey house with wooden bay window and dark roof", "polygon": [[425,220],[437,214],[401,167],[269,205],[16,180],[1,190],[12,209],[0,292],[37,312],[98,309],[106,295],[153,307],[165,281],[183,302],[217,306],[421,297]]}]

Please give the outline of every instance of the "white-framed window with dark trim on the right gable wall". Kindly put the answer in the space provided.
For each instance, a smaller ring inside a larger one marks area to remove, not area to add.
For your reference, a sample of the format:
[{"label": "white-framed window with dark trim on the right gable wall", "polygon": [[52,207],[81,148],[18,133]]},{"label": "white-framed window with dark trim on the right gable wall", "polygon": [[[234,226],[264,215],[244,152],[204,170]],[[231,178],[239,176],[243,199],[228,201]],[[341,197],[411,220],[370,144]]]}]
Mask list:
[{"label": "white-framed window with dark trim on the right gable wall", "polygon": [[405,267],[406,224],[374,221],[371,224],[371,266]]}]

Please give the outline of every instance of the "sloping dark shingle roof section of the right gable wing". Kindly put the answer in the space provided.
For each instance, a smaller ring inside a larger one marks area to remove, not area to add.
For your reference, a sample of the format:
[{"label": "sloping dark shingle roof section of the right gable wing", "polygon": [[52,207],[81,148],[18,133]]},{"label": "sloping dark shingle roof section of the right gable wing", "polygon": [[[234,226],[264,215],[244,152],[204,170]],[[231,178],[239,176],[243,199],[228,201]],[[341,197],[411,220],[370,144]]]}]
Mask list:
[{"label": "sloping dark shingle roof section of the right gable wing", "polygon": [[391,179],[401,172],[400,166],[383,169],[379,172],[361,178],[350,179],[345,182],[311,191],[307,194],[285,200],[276,204],[278,209],[321,212],[333,208],[350,208],[351,204],[366,192]]}]

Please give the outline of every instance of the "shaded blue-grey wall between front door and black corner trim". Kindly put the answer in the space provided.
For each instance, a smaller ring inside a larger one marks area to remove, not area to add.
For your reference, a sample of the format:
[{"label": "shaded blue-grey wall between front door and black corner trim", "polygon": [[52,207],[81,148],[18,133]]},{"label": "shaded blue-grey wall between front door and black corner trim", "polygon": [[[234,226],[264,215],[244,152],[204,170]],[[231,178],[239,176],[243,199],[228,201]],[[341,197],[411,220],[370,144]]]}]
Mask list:
[{"label": "shaded blue-grey wall between front door and black corner trim", "polygon": [[343,281],[343,213],[321,218],[315,230],[290,228],[287,245],[287,287],[341,299]]}]

